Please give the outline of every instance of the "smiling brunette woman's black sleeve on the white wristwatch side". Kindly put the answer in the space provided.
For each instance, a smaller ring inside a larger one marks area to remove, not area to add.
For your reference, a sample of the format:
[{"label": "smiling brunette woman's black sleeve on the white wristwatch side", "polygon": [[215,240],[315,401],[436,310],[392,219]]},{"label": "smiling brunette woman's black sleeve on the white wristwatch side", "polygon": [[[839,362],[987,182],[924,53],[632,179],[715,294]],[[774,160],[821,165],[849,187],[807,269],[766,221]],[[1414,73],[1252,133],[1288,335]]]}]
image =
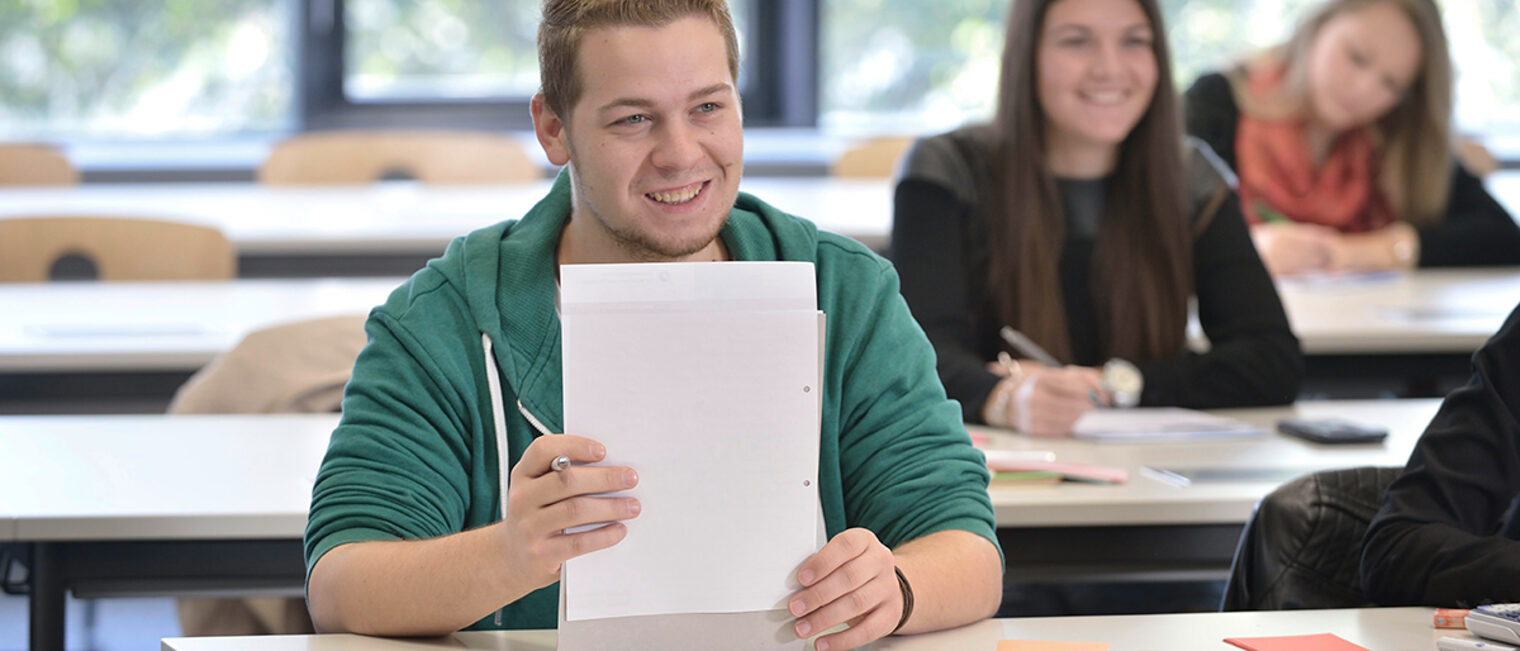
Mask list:
[{"label": "smiling brunette woman's black sleeve on the white wristwatch side", "polygon": [[1294,402],[1304,379],[1298,339],[1234,193],[1193,242],[1193,283],[1210,348],[1138,364],[1140,403],[1216,409]]}]

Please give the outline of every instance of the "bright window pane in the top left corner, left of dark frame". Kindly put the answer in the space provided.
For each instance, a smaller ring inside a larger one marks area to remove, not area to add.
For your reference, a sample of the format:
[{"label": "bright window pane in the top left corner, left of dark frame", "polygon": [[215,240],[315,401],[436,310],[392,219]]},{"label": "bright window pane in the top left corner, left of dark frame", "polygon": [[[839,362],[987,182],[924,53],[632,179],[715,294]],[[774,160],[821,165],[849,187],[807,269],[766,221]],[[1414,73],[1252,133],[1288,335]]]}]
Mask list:
[{"label": "bright window pane in the top left corner, left of dark frame", "polygon": [[0,2],[0,138],[210,137],[289,128],[295,5]]}]

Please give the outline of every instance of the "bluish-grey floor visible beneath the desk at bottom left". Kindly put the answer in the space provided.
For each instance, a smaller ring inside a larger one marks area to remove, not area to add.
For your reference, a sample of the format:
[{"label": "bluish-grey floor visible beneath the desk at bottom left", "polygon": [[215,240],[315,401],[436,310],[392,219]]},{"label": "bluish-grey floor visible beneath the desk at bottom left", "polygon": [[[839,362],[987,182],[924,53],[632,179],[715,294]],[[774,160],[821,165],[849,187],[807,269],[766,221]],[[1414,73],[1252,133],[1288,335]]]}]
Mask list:
[{"label": "bluish-grey floor visible beneath the desk at bottom left", "polygon": [[[94,608],[68,599],[68,651],[152,651],[161,637],[178,634],[179,619],[169,598],[94,599]],[[26,649],[26,596],[0,595],[0,649]]]}]

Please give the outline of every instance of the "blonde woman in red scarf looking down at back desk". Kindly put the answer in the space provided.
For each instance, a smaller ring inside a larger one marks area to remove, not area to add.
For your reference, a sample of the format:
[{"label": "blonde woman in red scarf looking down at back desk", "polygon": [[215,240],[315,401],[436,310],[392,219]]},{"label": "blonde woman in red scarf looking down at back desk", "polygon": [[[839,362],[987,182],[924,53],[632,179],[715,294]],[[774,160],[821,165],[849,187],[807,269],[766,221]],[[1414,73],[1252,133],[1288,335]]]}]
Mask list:
[{"label": "blonde woman in red scarf looking down at back desk", "polygon": [[1520,227],[1455,160],[1450,114],[1430,0],[1327,0],[1186,94],[1274,274],[1520,265]]}]

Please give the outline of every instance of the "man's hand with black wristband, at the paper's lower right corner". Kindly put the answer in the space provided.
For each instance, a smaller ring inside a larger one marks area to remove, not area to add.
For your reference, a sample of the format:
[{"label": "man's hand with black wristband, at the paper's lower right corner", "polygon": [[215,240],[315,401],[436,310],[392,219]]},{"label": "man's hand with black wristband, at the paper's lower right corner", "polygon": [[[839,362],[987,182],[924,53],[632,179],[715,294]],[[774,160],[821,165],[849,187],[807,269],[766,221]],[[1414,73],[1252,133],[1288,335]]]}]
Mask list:
[{"label": "man's hand with black wristband, at the paper's lower right corner", "polygon": [[845,529],[796,570],[803,590],[787,610],[798,637],[848,622],[850,630],[815,640],[818,651],[841,651],[886,637],[903,616],[897,560],[869,529]]}]

